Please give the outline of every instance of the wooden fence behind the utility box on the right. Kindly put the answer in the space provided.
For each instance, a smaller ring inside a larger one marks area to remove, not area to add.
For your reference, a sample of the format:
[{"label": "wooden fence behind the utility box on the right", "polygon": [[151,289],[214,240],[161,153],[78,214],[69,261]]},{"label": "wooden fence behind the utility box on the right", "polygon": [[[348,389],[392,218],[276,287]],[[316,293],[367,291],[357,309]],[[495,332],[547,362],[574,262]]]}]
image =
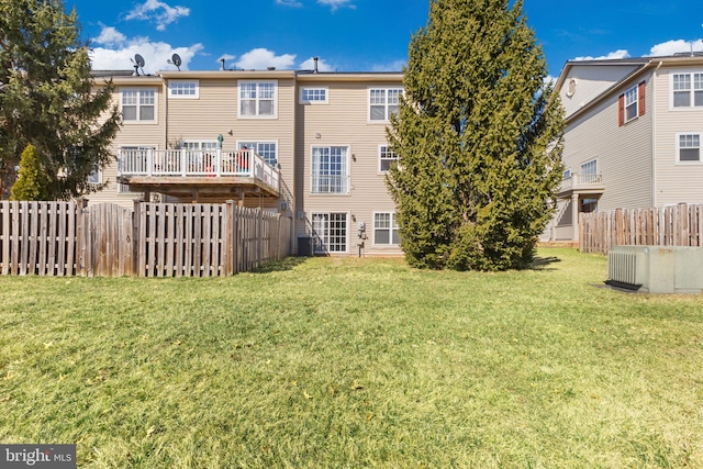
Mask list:
[{"label": "wooden fence behind the utility box on the right", "polygon": [[579,248],[607,254],[612,246],[703,246],[703,205],[581,213]]}]

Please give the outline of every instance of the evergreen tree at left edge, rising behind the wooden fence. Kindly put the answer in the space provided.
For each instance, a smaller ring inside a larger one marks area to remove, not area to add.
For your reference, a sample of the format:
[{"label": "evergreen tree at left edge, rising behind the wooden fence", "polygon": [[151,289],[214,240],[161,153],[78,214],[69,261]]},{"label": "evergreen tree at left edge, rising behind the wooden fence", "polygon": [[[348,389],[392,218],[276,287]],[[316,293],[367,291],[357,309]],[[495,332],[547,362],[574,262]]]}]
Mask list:
[{"label": "evergreen tree at left edge, rising behind the wooden fence", "polygon": [[[96,88],[76,11],[60,0],[0,2],[0,177],[5,188],[27,144],[48,178],[46,196],[100,189],[87,178],[112,159],[120,115],[112,86]],[[1,194],[0,194],[1,196]]]}]

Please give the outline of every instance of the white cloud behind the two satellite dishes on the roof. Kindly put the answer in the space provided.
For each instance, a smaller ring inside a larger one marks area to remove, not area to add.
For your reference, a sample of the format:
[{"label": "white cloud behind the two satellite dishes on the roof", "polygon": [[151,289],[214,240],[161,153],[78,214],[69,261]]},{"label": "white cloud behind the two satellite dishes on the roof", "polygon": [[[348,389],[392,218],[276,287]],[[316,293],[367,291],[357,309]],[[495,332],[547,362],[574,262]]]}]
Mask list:
[{"label": "white cloud behind the two satellite dishes on the roof", "polygon": [[155,74],[158,70],[174,68],[168,62],[174,54],[178,54],[182,60],[180,68],[188,69],[188,63],[203,49],[202,44],[193,44],[188,47],[174,47],[164,42],[152,42],[148,37],[127,40],[114,27],[104,26],[96,43],[105,47],[93,47],[90,54],[93,70],[129,70],[132,68],[131,58],[135,54],[142,55],[146,65],[144,72]]}]

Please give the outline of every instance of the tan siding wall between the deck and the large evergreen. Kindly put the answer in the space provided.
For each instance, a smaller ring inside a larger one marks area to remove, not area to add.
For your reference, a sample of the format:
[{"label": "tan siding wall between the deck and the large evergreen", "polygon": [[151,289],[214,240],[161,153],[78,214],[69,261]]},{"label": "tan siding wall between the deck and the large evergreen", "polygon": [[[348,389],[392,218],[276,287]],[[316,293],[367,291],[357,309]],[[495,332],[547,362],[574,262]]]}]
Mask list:
[{"label": "tan siding wall between the deck and the large evergreen", "polygon": [[[327,104],[298,104],[297,183],[298,206],[304,220],[297,220],[295,233],[309,234],[313,213],[345,212],[348,217],[348,254],[357,253],[357,226],[366,224],[366,254],[398,254],[398,246],[373,245],[373,213],[394,212],[395,205],[386,187],[386,175],[379,171],[379,145],[387,144],[388,122],[369,122],[369,88],[398,88],[397,82],[315,82],[328,89]],[[299,83],[299,87],[304,86]],[[314,146],[348,146],[348,194],[311,192],[311,163]],[[354,215],[354,217],[352,217]]]}]

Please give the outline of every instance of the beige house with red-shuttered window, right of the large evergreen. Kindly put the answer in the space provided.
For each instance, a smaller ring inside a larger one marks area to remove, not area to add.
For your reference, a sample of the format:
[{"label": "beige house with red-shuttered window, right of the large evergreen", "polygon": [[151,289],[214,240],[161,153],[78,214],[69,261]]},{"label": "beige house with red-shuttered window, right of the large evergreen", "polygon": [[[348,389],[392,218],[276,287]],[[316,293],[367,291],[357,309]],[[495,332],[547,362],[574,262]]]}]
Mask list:
[{"label": "beige house with red-shuttered window, right of the large evergreen", "polygon": [[569,62],[565,175],[545,237],[576,241],[579,213],[703,203],[703,56]]}]

